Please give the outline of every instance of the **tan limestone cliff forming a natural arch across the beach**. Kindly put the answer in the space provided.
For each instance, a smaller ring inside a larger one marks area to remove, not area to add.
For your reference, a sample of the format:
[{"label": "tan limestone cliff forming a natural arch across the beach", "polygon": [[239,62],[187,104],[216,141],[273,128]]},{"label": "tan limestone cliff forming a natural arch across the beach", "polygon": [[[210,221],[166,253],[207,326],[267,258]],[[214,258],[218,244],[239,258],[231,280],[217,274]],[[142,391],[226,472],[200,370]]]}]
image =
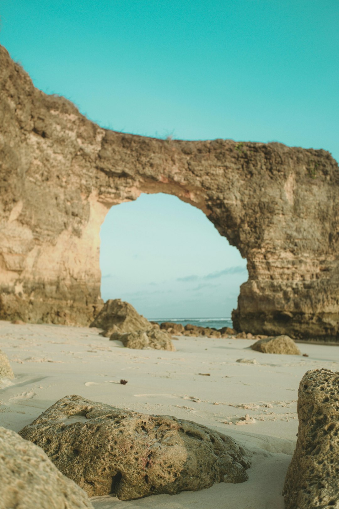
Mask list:
[{"label": "tan limestone cliff forming a natural arch across the beach", "polygon": [[339,171],[324,150],[100,128],[0,47],[0,318],[88,324],[100,225],[141,192],[203,210],[248,260],[237,329],[339,339]]}]

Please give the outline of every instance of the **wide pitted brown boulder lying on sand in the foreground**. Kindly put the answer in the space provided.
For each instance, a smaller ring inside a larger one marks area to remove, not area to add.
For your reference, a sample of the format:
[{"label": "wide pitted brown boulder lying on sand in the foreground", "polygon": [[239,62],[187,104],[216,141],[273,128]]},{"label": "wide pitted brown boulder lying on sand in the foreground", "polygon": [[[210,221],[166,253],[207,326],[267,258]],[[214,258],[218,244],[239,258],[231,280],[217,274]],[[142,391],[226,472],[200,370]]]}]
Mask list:
[{"label": "wide pitted brown boulder lying on sand in the foreground", "polygon": [[57,401],[19,433],[89,496],[131,500],[248,479],[249,455],[230,437],[196,422],[77,395]]}]

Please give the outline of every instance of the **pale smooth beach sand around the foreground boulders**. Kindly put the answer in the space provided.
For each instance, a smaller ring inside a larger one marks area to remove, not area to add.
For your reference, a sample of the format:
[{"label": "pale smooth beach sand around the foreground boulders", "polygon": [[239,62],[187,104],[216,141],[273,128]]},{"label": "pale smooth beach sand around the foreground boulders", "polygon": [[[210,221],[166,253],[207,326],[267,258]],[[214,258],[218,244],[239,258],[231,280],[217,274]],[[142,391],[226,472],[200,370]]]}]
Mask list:
[{"label": "pale smooth beach sand around the foreground boulders", "polygon": [[[19,431],[67,394],[194,420],[254,452],[247,482],[130,502],[94,497],[94,506],[283,509],[281,492],[298,430],[299,382],[307,370],[339,371],[339,348],[299,344],[301,352],[309,354],[302,357],[255,352],[248,348],[252,343],[179,337],[176,352],[129,350],[100,336],[98,329],[0,321],[0,349],[15,374],[15,380],[5,380],[0,389],[0,424]],[[236,362],[240,358],[252,363]],[[121,378],[128,383],[121,385]],[[255,422],[236,425],[246,414]]]}]

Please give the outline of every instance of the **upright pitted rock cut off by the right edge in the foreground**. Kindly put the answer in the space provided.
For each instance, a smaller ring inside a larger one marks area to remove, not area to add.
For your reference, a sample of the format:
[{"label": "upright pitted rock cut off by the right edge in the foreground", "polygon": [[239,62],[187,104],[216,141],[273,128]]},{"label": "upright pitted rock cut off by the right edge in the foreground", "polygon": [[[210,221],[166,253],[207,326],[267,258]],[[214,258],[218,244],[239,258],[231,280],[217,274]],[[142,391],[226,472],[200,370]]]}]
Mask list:
[{"label": "upright pitted rock cut off by the right edge in the foreground", "polygon": [[297,445],[287,470],[286,509],[339,507],[339,372],[307,371],[298,390]]}]

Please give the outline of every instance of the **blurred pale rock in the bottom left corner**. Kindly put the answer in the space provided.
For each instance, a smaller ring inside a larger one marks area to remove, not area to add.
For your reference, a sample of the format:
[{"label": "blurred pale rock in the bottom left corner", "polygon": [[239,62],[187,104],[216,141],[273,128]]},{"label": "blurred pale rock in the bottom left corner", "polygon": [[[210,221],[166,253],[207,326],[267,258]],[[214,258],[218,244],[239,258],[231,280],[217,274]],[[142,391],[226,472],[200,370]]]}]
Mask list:
[{"label": "blurred pale rock in the bottom left corner", "polygon": [[0,509],[93,509],[88,496],[44,451],[0,428]]}]

